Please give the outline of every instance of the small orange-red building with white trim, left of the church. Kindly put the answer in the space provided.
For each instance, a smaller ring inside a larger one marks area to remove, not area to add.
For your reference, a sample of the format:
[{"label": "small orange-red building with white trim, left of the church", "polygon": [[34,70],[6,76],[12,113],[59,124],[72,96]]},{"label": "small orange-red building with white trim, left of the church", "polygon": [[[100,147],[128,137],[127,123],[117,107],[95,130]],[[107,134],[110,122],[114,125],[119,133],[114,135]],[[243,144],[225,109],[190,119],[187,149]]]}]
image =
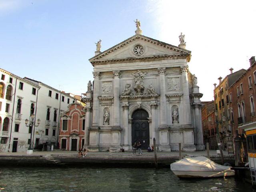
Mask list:
[{"label": "small orange-red building with white trim, left of the church", "polygon": [[84,146],[85,112],[83,106],[72,103],[68,110],[60,115],[60,149],[77,151]]}]

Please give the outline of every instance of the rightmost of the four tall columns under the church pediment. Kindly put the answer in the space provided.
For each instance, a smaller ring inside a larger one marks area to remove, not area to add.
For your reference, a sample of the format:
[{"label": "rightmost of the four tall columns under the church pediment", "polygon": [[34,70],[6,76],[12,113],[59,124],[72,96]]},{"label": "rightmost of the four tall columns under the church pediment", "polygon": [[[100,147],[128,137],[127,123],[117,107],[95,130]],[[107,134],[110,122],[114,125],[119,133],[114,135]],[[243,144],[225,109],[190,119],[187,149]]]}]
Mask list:
[{"label": "rightmost of the four tall columns under the church pediment", "polygon": [[191,124],[190,116],[190,100],[189,100],[189,89],[188,89],[188,66],[180,67],[182,90],[183,90],[183,124]]}]

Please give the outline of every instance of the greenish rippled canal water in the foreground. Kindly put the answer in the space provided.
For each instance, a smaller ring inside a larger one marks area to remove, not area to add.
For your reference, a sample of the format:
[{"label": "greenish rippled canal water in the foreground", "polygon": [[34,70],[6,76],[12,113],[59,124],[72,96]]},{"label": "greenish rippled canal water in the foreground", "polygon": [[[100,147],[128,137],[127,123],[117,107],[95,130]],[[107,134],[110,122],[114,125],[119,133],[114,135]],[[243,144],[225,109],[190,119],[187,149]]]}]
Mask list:
[{"label": "greenish rippled canal water in the foreground", "polygon": [[180,180],[167,168],[0,168],[0,188],[1,192],[256,192],[235,178]]}]

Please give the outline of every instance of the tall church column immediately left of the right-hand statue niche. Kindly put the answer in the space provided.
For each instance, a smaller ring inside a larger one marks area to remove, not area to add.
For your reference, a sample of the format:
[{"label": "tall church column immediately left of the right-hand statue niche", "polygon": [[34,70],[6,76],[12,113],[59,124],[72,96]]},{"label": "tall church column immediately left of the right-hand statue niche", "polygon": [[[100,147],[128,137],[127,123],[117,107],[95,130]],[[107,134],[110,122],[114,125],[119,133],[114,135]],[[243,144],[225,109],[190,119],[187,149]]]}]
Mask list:
[{"label": "tall church column immediately left of the right-hand statue niche", "polygon": [[166,84],[165,84],[165,72],[166,68],[157,68],[160,79],[160,128],[167,127],[166,121]]}]

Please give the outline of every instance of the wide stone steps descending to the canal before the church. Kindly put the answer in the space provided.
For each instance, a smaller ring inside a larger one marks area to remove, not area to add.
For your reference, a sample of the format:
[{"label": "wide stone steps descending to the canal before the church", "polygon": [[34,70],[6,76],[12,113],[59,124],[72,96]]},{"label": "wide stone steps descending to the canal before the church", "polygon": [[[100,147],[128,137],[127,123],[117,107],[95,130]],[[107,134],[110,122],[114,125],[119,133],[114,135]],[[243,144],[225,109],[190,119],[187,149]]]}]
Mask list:
[{"label": "wide stone steps descending to the canal before the church", "polygon": [[[78,158],[77,154],[50,154],[45,159],[56,166],[102,166],[102,167],[154,167],[154,153],[150,154],[88,154]],[[158,154],[159,167],[169,167],[179,160],[177,155]]]}]

